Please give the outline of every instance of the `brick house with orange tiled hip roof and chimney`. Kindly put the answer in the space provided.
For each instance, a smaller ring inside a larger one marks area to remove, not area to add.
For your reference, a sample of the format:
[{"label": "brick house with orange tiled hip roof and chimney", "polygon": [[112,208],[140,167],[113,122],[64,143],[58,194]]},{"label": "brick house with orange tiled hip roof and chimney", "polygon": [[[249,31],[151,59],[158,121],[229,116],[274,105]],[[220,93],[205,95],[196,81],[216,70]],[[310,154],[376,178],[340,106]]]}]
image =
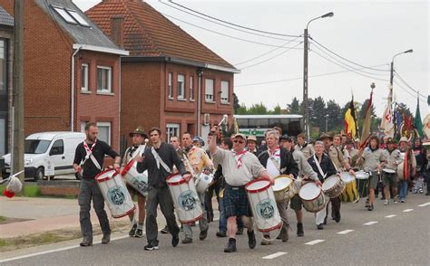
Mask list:
[{"label": "brick house with orange tiled hip roof and chimney", "polygon": [[[233,114],[229,62],[142,0],[104,0],[85,14],[130,52],[122,57],[121,135],[142,125],[205,136]],[[199,121],[199,122],[197,122]]]}]

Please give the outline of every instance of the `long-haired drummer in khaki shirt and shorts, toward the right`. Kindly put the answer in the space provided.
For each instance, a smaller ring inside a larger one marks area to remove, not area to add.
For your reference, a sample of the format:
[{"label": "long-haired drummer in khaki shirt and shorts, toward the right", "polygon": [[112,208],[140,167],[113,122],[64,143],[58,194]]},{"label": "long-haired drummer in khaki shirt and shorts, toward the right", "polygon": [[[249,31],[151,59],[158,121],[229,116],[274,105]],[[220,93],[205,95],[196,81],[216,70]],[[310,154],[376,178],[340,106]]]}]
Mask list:
[{"label": "long-haired drummer in khaki shirt and shorts, toward the right", "polygon": [[384,151],[379,148],[379,138],[371,136],[369,145],[364,149],[360,149],[359,155],[357,164],[362,164],[363,169],[370,173],[368,178],[369,197],[366,207],[368,211],[373,211],[375,190],[381,174],[382,163],[384,162]]}]

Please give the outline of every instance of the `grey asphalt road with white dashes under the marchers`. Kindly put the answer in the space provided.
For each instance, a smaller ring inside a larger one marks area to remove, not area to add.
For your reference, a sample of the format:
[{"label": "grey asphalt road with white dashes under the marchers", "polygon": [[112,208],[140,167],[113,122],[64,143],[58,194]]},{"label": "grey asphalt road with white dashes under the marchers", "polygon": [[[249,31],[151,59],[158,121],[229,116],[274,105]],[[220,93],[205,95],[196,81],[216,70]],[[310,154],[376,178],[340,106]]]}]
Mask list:
[{"label": "grey asphalt road with white dashes under the marchers", "polygon": [[[421,206],[420,206],[421,205]],[[288,242],[248,248],[246,233],[238,236],[238,252],[224,253],[227,238],[217,238],[218,223],[210,223],[208,238],[171,247],[171,236],[160,235],[160,250],[146,252],[145,239],[122,238],[108,245],[72,247],[14,261],[5,265],[429,265],[430,196],[409,195],[405,204],[383,205],[368,212],[364,201],[342,204],[340,223],[329,221],[324,230],[315,227],[313,214],[305,213],[305,236],[296,235],[296,219],[290,210],[292,230]],[[374,222],[374,223],[371,223]],[[375,223],[376,222],[376,223]],[[366,223],[366,224],[365,224]],[[259,242],[260,238],[258,238]],[[313,244],[312,244],[313,243]],[[1,254],[0,254],[1,256]],[[269,256],[269,257],[268,257]],[[266,258],[265,258],[266,257]],[[1,261],[1,260],[0,260]]]}]

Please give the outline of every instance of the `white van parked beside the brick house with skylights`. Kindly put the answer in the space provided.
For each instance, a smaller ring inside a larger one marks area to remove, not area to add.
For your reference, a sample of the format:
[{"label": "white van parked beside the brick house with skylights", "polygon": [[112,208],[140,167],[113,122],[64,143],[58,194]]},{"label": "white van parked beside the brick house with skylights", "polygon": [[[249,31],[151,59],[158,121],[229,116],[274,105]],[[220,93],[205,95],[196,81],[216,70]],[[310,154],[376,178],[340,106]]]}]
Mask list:
[{"label": "white van parked beside the brick house with skylights", "polygon": [[[85,134],[81,132],[59,131],[34,133],[25,138],[25,177],[34,180],[44,176],[73,174],[74,152]],[[11,155],[6,154],[3,176],[10,175]]]}]

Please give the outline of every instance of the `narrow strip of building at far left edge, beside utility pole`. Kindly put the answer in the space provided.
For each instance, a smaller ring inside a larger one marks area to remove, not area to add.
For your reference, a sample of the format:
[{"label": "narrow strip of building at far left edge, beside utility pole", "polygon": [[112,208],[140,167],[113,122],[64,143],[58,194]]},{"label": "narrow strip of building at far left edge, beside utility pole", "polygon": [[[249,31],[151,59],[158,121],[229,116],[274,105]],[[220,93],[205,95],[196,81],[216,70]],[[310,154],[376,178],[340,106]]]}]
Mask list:
[{"label": "narrow strip of building at far left edge, beside utility pole", "polygon": [[0,6],[0,157],[11,147],[14,17]]}]

